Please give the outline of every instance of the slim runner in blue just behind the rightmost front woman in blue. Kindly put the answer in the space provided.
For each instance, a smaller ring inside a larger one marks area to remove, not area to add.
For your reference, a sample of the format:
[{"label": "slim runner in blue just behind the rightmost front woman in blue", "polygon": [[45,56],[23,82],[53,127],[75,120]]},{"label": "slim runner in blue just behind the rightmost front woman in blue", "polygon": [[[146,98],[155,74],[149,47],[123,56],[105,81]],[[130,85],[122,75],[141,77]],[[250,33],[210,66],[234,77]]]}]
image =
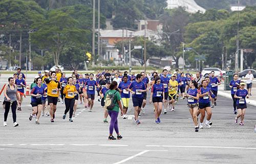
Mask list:
[{"label": "slim runner in blue just behind the rightmost front woman in blue", "polygon": [[240,86],[241,80],[238,80],[238,74],[233,75],[233,80],[230,81],[229,87],[231,88],[231,97],[233,99],[233,113],[237,114],[237,99],[234,98],[234,94]]}]

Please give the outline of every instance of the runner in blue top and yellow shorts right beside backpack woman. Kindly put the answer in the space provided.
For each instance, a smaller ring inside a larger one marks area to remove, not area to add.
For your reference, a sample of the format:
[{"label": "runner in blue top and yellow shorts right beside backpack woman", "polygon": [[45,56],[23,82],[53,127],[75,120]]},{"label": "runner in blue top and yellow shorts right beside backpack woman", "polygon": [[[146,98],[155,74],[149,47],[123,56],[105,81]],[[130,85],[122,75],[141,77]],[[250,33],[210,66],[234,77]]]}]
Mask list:
[{"label": "runner in blue top and yellow shorts right beside backpack woman", "polygon": [[130,91],[128,87],[130,86],[131,81],[128,81],[127,75],[123,76],[123,81],[119,84],[118,90],[121,93],[121,99],[123,103],[123,119],[127,119],[127,110],[129,107],[129,101],[130,101]]}]

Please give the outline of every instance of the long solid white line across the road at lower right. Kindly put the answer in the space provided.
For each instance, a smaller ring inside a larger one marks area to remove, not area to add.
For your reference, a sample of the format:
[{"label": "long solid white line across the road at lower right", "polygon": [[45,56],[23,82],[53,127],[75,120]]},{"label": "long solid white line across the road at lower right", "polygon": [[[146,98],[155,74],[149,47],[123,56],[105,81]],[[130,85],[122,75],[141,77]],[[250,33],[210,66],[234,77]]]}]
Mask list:
[{"label": "long solid white line across the road at lower right", "polygon": [[146,145],[146,147],[172,147],[172,148],[216,148],[216,149],[247,149],[247,150],[256,150],[256,148],[243,148],[243,147],[221,147],[221,146]]}]

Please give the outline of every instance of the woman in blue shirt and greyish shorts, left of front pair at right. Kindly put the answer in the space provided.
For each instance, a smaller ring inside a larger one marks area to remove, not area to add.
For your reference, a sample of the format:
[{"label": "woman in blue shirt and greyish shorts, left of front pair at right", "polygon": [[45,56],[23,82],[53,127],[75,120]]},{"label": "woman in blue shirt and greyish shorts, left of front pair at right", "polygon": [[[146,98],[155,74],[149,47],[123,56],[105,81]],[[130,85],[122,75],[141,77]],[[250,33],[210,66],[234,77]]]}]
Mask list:
[{"label": "woman in blue shirt and greyish shorts, left of front pair at right", "polygon": [[198,93],[198,85],[195,80],[190,81],[189,83],[189,89],[187,90],[187,95],[185,97],[187,98],[187,106],[189,108],[189,112],[192,116],[194,125],[195,125],[195,131],[198,132],[199,127],[197,123],[197,111],[198,111],[198,99],[199,99],[199,93]]}]

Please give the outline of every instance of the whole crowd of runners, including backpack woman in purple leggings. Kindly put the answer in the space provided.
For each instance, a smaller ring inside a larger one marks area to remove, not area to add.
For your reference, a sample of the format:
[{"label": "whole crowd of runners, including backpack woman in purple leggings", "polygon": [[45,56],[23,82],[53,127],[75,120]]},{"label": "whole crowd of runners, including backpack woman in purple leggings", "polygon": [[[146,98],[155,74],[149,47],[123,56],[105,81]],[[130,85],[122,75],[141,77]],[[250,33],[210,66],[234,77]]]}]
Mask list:
[{"label": "whole crowd of runners, including backpack woman in purple leggings", "polygon": [[[13,126],[18,126],[16,122],[16,110],[22,111],[22,102],[25,97],[27,87],[26,76],[18,68],[13,77],[8,79],[8,85],[4,88],[4,126],[7,126],[8,112],[12,110]],[[68,114],[69,122],[76,115],[77,105],[83,104],[89,112],[95,110],[94,101],[98,101],[104,110],[103,122],[108,123],[108,115],[111,117],[109,139],[116,139],[112,133],[115,129],[117,139],[122,136],[118,131],[118,113],[121,112],[123,119],[127,119],[130,98],[134,107],[135,124],[140,124],[140,116],[145,114],[147,102],[153,103],[155,113],[155,123],[161,123],[161,114],[175,111],[179,101],[186,101],[187,107],[194,122],[195,131],[212,125],[212,108],[217,106],[218,86],[221,84],[215,72],[203,77],[200,72],[195,76],[189,73],[167,71],[163,69],[161,73],[153,72],[146,74],[133,73],[129,75],[126,71],[120,72],[104,70],[94,74],[79,74],[77,70],[70,77],[66,77],[59,67],[55,71],[44,71],[44,75],[38,72],[34,82],[30,85],[30,96],[32,112],[28,116],[31,121],[35,118],[35,123],[39,123],[40,116],[50,116],[53,123],[57,103],[65,104],[62,119],[65,120]],[[238,75],[233,75],[233,80],[229,84],[233,99],[233,113],[236,114],[235,123],[244,125],[244,115],[246,111],[246,98],[249,98],[245,89],[246,83],[238,79]],[[248,85],[247,85],[248,88]],[[149,98],[149,100],[147,100]],[[179,100],[180,99],[180,100]],[[148,104],[147,104],[148,105]],[[130,109],[131,110],[131,109]],[[238,119],[240,122],[238,123]]]}]

